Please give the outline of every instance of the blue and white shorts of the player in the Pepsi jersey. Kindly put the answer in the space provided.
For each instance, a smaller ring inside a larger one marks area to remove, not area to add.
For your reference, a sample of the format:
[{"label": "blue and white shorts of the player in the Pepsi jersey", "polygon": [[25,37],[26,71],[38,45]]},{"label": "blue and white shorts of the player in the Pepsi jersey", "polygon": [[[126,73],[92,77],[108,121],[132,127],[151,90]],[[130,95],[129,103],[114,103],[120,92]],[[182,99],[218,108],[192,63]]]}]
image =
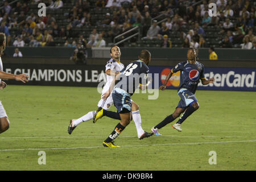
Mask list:
[{"label": "blue and white shorts of the player in the Pepsi jersey", "polygon": [[186,109],[192,103],[198,102],[195,94],[189,92],[187,89],[180,89],[178,95],[180,96],[180,101],[177,107],[180,107],[182,109]]}]

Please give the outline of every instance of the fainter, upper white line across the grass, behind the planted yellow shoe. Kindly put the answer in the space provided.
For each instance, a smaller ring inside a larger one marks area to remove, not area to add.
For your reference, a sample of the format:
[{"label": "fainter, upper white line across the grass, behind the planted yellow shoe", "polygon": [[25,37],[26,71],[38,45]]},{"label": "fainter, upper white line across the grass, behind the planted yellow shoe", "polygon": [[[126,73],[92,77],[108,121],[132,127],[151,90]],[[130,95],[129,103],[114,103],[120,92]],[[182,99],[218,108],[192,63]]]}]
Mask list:
[{"label": "fainter, upper white line across the grass, behind the planted yellow shoe", "polygon": [[[164,135],[160,137],[177,137],[177,138],[256,138],[256,137],[249,137],[249,136],[172,136],[172,135]],[[33,139],[33,138],[106,138],[106,136],[81,136],[81,137],[0,137],[0,139]],[[135,136],[119,136],[118,138],[135,138]]]}]

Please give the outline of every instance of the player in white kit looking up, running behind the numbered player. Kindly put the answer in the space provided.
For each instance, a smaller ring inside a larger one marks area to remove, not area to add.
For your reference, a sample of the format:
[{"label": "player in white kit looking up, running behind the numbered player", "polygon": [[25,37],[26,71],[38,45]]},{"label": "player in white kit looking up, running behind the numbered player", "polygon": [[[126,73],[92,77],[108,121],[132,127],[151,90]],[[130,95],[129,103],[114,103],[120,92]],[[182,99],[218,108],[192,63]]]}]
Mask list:
[{"label": "player in white kit looking up, running behind the numbered player", "polygon": [[[115,76],[120,71],[122,71],[123,68],[125,68],[124,65],[120,62],[121,51],[118,46],[113,46],[112,48],[110,48],[110,56],[112,58],[107,62],[106,69],[105,69],[107,82],[102,90],[102,94],[104,94],[109,89],[109,86],[111,82],[114,80]],[[98,102],[97,111],[100,111],[102,109],[108,110],[113,105],[113,103],[114,102],[111,95],[107,98],[107,100],[102,99],[102,95],[101,95],[101,100]],[[138,138],[143,139],[145,137],[150,137],[152,133],[147,133],[141,127],[141,114],[139,114],[139,106],[132,101],[131,107],[133,111],[133,120],[135,122],[135,126],[138,133]],[[90,119],[93,119],[95,115],[96,115],[96,111],[89,111],[89,113],[83,115],[79,119],[72,119],[68,126],[68,133],[72,134],[72,131],[77,127],[77,125],[79,125],[81,122],[85,122],[85,121],[89,121]]]}]

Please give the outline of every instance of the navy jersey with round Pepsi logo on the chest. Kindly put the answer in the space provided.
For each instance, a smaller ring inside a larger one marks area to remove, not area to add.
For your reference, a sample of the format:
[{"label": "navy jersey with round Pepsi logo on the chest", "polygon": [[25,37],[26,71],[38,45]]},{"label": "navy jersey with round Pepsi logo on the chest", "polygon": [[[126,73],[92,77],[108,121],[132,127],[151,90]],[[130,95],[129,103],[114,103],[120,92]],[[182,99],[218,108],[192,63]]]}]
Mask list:
[{"label": "navy jersey with round Pepsi logo on the chest", "polygon": [[188,61],[181,62],[171,71],[172,73],[180,71],[180,86],[178,92],[181,88],[185,88],[195,94],[199,80],[205,79],[204,65],[198,61],[196,61],[196,64],[190,64]]}]

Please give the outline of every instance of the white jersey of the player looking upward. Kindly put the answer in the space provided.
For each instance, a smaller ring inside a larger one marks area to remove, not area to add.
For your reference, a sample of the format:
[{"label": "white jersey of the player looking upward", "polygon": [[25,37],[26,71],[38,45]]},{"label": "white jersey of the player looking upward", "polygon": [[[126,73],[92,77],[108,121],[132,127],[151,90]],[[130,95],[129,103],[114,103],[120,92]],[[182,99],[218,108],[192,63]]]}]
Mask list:
[{"label": "white jersey of the player looking upward", "polygon": [[[122,63],[118,63],[117,61],[115,61],[114,59],[110,59],[107,64],[106,64],[106,69],[105,71],[107,71],[108,69],[110,69],[112,72],[118,73],[120,72],[123,68],[125,68],[125,66]],[[106,75],[106,84],[102,90],[102,94],[104,94],[108,89],[109,86],[111,84],[111,82],[114,80],[115,76],[110,76],[110,75]]]}]

